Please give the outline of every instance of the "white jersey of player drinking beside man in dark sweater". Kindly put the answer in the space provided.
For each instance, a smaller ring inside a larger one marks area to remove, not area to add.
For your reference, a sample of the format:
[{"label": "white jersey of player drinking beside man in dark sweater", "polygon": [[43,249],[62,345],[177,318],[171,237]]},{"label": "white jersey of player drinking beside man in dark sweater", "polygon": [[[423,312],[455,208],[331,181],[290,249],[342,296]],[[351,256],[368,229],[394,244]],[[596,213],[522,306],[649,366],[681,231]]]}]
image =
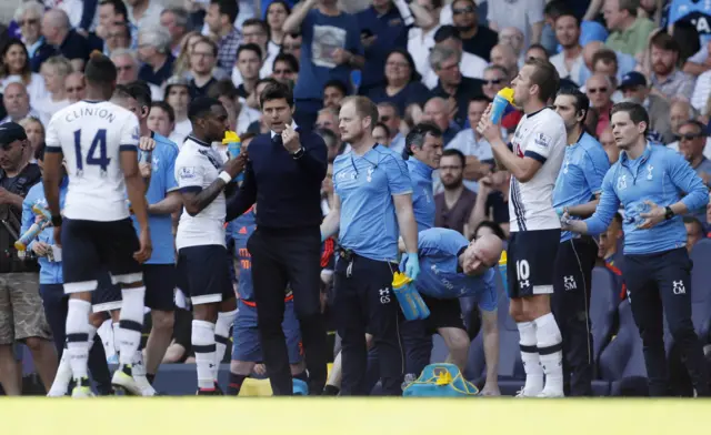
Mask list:
[{"label": "white jersey of player drinking beside man in dark sweater", "polygon": [[[176,180],[181,191],[200,192],[214,182],[222,171],[224,156],[213,145],[188,136],[176,159]],[[176,247],[224,246],[224,192],[194,216],[183,210],[178,224]]]}]

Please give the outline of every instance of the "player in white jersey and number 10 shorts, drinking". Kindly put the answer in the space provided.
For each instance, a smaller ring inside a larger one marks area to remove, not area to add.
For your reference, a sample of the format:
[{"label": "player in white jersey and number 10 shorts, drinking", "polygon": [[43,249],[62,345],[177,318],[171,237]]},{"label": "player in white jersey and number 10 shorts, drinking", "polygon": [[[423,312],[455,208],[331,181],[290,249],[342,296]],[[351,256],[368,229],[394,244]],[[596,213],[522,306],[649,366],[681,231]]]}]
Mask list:
[{"label": "player in white jersey and number 10 shorts, drinking", "polygon": [[[519,397],[562,397],[562,344],[551,313],[560,219],[553,210],[553,186],[565,154],[565,124],[548,108],[559,84],[548,61],[528,60],[511,82],[515,105],[524,117],[511,145],[487,110],[478,131],[491,144],[500,166],[511,172],[508,247],[509,312],[520,333],[525,386]],[[543,383],[545,375],[545,383]]]}]

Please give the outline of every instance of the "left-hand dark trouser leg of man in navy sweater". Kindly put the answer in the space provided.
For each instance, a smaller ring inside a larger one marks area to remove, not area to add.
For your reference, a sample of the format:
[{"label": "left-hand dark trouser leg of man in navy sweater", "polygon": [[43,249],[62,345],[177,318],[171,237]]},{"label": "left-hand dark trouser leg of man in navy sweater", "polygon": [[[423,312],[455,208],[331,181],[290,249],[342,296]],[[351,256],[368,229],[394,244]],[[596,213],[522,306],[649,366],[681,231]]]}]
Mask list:
[{"label": "left-hand dark trouser leg of man in navy sweater", "polygon": [[289,274],[287,267],[276,257],[273,246],[269,246],[270,243],[278,242],[264,236],[260,230],[257,230],[247,242],[247,247],[252,254],[257,322],[271,390],[274,395],[291,395],[293,388],[287,342],[281,328]]}]

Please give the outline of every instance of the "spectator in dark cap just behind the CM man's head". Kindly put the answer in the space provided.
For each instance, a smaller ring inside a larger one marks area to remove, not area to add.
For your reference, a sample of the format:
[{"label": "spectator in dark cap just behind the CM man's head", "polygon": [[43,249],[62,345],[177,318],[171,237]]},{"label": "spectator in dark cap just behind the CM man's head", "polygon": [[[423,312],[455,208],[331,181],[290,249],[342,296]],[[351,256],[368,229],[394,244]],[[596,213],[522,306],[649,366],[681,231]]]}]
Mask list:
[{"label": "spectator in dark cap just behind the CM man's head", "polygon": [[674,141],[674,133],[671,131],[669,121],[669,101],[651,92],[647,84],[647,79],[641,72],[628,72],[620,83],[622,95],[628,101],[641,104],[649,113],[649,129],[655,131],[661,136],[662,143]]}]

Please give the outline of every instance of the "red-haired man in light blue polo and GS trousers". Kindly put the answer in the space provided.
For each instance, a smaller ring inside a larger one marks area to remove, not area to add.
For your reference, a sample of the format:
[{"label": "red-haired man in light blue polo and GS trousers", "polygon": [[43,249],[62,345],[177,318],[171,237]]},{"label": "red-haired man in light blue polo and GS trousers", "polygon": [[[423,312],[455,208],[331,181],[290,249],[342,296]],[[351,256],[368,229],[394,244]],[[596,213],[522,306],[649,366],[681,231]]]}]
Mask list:
[{"label": "red-haired man in light blue polo and GS trousers", "polygon": [[340,230],[334,305],[342,338],[341,395],[369,393],[365,332],[378,346],[383,394],[402,394],[401,314],[392,293],[399,235],[410,260],[405,274],[417,279],[420,272],[410,175],[400,155],[375,143],[377,120],[378,107],[367,98],[341,105],[341,140],[351,151],[333,163],[333,208],[321,224],[322,240]]}]

